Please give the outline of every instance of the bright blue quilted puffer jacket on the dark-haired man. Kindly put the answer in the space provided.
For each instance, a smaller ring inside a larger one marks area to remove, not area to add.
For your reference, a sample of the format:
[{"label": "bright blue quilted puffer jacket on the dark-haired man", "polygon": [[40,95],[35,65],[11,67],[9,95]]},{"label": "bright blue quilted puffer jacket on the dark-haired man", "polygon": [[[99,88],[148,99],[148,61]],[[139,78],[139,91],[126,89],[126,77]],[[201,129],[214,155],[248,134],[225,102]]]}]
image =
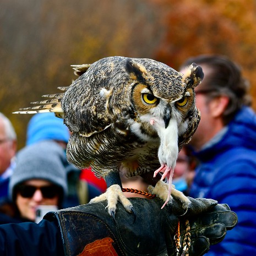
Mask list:
[{"label": "bright blue quilted puffer jacket on the dark-haired man", "polygon": [[238,224],[208,256],[256,255],[256,115],[243,107],[221,140],[196,152],[200,163],[190,196],[226,203]]}]

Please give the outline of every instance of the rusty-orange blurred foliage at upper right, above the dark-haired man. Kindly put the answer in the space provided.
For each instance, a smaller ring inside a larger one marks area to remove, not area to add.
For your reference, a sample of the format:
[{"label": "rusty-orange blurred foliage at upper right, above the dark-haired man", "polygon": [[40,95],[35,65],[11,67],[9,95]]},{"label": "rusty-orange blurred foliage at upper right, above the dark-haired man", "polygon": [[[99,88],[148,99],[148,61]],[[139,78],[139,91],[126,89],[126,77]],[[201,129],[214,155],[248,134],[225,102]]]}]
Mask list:
[{"label": "rusty-orange blurred foliage at upper right, above the dark-haired man", "polygon": [[[256,2],[254,0],[154,0],[165,15],[164,40],[155,58],[178,69],[184,59],[222,54],[242,66],[256,97]],[[253,103],[256,109],[256,102]]]}]

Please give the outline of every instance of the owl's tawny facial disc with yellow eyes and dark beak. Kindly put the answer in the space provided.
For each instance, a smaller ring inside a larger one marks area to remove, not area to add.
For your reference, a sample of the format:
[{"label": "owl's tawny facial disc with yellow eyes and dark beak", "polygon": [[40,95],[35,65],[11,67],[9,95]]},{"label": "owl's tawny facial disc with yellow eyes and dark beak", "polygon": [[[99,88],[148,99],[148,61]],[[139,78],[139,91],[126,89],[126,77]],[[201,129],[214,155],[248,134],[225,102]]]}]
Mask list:
[{"label": "owl's tawny facial disc with yellow eyes and dark beak", "polygon": [[156,133],[159,135],[159,130],[150,123],[151,118],[154,118],[163,129],[170,128],[171,120],[175,121],[178,135],[182,135],[187,127],[188,112],[194,104],[194,91],[187,88],[176,99],[161,99],[154,95],[148,85],[138,83],[133,86],[132,104],[135,119],[131,118],[130,124],[133,126],[134,133],[139,134],[139,137],[142,133],[150,138],[155,138]]}]

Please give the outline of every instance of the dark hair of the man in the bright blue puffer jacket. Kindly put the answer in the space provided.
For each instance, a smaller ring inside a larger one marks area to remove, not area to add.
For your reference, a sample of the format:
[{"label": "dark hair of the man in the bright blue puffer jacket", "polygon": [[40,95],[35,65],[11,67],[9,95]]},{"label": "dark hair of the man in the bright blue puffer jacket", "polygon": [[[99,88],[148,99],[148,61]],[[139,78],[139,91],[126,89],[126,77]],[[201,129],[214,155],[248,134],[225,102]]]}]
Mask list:
[{"label": "dark hair of the man in the bright blue puffer jacket", "polygon": [[230,122],[242,106],[250,106],[249,82],[242,76],[241,67],[237,63],[232,62],[226,56],[199,55],[187,59],[182,67],[193,62],[199,66],[200,64],[206,65],[211,69],[211,73],[204,77],[200,91],[207,92],[209,99],[220,95],[226,95],[229,98],[223,113],[224,124]]}]

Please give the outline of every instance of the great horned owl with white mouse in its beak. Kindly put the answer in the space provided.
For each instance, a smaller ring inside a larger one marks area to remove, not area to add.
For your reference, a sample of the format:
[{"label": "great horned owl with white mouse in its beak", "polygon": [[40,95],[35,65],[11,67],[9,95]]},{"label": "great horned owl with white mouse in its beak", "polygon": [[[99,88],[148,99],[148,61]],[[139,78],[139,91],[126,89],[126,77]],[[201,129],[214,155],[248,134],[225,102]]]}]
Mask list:
[{"label": "great horned owl with white mouse in its beak", "polygon": [[[117,200],[133,211],[119,172],[127,177],[151,173],[157,178],[149,179],[155,185],[151,192],[165,204],[172,194],[186,208],[189,200],[171,181],[178,151],[200,120],[194,88],[203,79],[201,67],[193,63],[182,74],[152,59],[126,57],[73,67],[80,77],[59,88],[64,93],[44,95],[53,99],[16,113],[55,112],[64,119],[73,132],[67,159],[78,168],[91,166],[96,176],[105,178],[108,189],[92,202],[107,199],[112,216]],[[166,176],[169,186],[162,181]]]}]

